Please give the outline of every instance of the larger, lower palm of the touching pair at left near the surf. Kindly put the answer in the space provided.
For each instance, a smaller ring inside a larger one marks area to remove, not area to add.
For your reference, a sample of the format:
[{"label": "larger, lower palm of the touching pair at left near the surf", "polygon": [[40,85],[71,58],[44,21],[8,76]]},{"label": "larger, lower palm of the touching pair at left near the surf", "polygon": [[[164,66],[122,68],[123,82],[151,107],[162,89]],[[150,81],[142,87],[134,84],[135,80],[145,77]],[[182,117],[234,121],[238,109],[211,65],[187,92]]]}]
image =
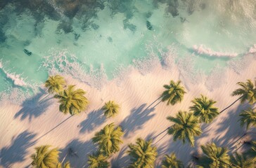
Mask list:
[{"label": "larger, lower palm of the touching pair at left near the surf", "polygon": [[59,92],[54,97],[59,99],[60,111],[64,114],[74,115],[87,108],[88,100],[87,97],[84,97],[85,93],[82,89],[75,90],[75,85],[68,85],[67,90]]}]

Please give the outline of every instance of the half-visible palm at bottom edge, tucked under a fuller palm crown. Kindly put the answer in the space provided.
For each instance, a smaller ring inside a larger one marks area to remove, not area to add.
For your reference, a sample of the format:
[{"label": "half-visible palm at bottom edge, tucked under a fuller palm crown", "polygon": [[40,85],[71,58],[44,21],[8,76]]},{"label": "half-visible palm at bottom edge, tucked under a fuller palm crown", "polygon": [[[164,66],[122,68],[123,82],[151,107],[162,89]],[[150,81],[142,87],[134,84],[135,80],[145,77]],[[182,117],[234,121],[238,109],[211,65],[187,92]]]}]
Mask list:
[{"label": "half-visible palm at bottom edge, tucked under a fuller palm crown", "polygon": [[96,153],[93,155],[89,155],[88,159],[88,168],[108,168],[110,163],[107,161],[108,157],[103,154]]}]

